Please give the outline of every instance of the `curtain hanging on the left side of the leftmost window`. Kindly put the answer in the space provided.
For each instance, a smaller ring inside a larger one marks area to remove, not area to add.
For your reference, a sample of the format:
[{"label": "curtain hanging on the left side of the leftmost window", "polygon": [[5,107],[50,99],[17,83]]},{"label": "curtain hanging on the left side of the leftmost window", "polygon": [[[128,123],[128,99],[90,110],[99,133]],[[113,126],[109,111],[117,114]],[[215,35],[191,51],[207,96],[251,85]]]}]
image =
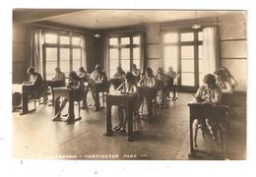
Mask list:
[{"label": "curtain hanging on the left side of the leftmost window", "polygon": [[41,29],[31,28],[29,37],[29,62],[27,63],[27,68],[32,66],[35,71],[43,76]]}]

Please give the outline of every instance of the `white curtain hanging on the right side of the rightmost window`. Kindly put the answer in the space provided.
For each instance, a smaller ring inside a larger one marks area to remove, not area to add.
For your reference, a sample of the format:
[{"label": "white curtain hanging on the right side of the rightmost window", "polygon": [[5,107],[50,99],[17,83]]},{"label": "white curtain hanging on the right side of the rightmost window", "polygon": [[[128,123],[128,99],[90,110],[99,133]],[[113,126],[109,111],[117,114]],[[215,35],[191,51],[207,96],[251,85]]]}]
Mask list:
[{"label": "white curtain hanging on the right side of the rightmost window", "polygon": [[216,26],[203,29],[203,74],[214,73],[219,62],[218,29]]}]

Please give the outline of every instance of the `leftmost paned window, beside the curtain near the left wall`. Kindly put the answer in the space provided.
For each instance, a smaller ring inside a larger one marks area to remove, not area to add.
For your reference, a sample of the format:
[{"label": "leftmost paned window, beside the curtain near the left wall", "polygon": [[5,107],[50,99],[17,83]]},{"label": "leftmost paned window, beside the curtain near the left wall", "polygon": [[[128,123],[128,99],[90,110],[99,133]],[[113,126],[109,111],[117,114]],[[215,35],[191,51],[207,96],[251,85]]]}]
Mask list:
[{"label": "leftmost paned window, beside the curtain near the left wall", "polygon": [[82,39],[81,35],[63,33],[44,33],[43,58],[46,80],[55,76],[58,66],[66,76],[71,71],[78,71],[82,66]]}]

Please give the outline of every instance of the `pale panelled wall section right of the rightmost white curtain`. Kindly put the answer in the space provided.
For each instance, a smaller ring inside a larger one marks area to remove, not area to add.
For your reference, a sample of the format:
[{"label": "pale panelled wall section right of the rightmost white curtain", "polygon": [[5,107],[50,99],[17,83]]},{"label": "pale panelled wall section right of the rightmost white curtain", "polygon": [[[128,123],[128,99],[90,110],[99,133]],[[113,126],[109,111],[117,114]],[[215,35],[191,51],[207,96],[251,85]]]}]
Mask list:
[{"label": "pale panelled wall section right of the rightmost white curtain", "polygon": [[235,78],[235,90],[247,89],[247,37],[244,14],[219,19],[221,66],[226,67]]}]

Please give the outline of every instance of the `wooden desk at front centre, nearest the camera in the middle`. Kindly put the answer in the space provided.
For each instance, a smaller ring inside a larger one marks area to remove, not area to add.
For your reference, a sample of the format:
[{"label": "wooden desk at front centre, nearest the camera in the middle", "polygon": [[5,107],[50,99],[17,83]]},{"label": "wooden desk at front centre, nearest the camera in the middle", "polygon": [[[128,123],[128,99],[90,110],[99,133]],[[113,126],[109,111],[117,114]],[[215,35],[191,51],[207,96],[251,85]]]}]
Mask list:
[{"label": "wooden desk at front centre, nearest the camera in the middle", "polygon": [[129,142],[133,141],[133,110],[137,100],[136,94],[108,93],[106,94],[106,133],[105,136],[112,134],[111,107],[118,105],[124,107],[128,116],[128,137]]}]

